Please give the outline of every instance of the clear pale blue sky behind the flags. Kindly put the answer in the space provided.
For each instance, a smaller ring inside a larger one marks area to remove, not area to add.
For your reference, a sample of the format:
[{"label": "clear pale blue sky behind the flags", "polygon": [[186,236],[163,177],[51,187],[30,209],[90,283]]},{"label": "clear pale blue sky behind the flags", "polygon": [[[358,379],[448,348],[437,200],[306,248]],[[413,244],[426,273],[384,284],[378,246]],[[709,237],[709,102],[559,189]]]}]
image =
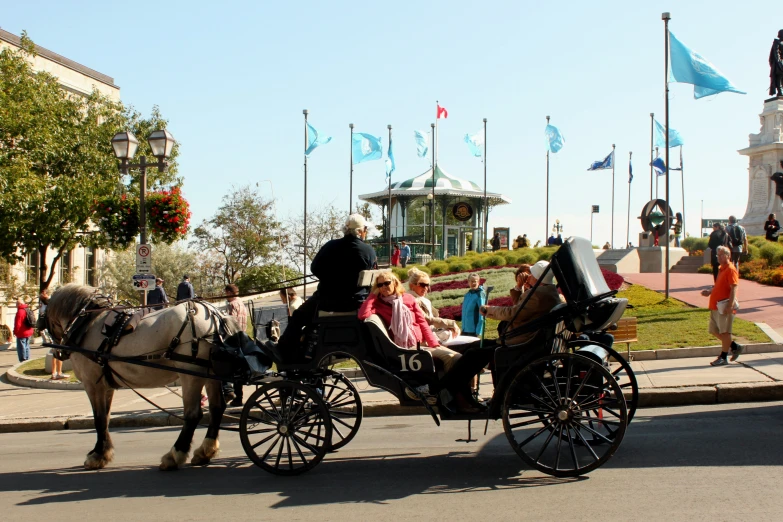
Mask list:
[{"label": "clear pale blue sky behind the flags", "polygon": [[[650,118],[663,120],[663,22],[747,95],[694,100],[672,84],[671,126],[686,141],[687,230],[705,217],[741,217],[748,134],[768,97],[767,57],[783,28],[770,2],[408,1],[7,3],[0,26],[115,78],[122,100],[157,104],[182,144],[184,191],[196,222],[230,185],[270,179],[280,217],[302,211],[302,109],[334,139],[313,153],[311,205],[348,204],[349,129],[382,135],[392,124],[395,181],[420,174],[414,129],[441,120],[439,163],[482,184],[462,137],[488,123],[488,187],[513,204],[490,227],[544,235],[545,116],[566,145],[551,160],[550,223],[567,235],[610,234],[611,171],[586,172],[617,144],[615,244],[625,241],[627,159],[633,151],[631,241],[649,199]],[[677,157],[676,149],[672,149]],[[676,164],[676,161],[672,161]],[[354,195],[382,189],[384,163],[356,166]],[[269,184],[261,187],[269,190]],[[660,188],[663,193],[663,183]],[[682,208],[672,176],[672,205]]]}]

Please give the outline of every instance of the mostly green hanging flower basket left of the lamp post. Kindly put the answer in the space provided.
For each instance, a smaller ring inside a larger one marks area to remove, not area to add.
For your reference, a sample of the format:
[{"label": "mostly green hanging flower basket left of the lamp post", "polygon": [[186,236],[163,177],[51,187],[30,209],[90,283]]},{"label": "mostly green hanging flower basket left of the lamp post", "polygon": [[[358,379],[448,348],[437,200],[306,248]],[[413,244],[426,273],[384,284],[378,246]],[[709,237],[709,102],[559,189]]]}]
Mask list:
[{"label": "mostly green hanging flower basket left of the lamp post", "polygon": [[124,250],[135,243],[139,234],[139,200],[127,194],[112,195],[97,200],[93,222],[102,233],[102,241],[110,248]]}]

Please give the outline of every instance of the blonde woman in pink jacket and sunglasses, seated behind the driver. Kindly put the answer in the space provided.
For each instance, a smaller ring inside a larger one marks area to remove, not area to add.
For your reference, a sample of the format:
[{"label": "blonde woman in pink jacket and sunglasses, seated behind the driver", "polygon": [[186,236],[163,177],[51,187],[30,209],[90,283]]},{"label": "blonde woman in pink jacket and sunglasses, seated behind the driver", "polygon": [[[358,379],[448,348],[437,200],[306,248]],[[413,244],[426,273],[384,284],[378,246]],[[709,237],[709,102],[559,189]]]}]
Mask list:
[{"label": "blonde woman in pink jacket and sunglasses, seated behind the driver", "polygon": [[394,344],[403,348],[416,348],[418,343],[424,341],[432,356],[443,363],[446,372],[459,359],[457,352],[440,346],[416,299],[405,293],[402,283],[392,272],[378,274],[372,293],[359,308],[361,320],[373,314],[381,318]]}]

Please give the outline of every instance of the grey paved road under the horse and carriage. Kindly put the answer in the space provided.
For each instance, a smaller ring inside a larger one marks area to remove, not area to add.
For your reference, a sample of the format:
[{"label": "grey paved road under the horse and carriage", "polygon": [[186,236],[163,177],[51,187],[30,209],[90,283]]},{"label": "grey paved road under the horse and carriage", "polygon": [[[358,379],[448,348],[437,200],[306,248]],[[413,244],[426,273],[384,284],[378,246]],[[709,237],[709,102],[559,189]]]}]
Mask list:
[{"label": "grey paved road under the horse and carriage", "polygon": [[[118,430],[111,468],[77,465],[87,431],[0,435],[8,520],[779,520],[783,403],[641,410],[615,457],[581,479],[525,469],[500,423],[472,445],[465,423],[365,419],[314,471],[274,477],[224,434],[209,468],[162,473],[171,429]],[[199,430],[198,437],[204,431]]]}]

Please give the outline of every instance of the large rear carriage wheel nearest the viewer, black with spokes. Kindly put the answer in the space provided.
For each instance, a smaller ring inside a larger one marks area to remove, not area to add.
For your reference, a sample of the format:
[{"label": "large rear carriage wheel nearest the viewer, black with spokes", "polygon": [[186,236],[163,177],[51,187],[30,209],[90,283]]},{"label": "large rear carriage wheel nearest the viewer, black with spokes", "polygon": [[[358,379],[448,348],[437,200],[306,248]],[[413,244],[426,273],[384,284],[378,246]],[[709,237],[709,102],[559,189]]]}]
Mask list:
[{"label": "large rear carriage wheel nearest the viewer, black with spokes", "polygon": [[520,370],[506,390],[502,413],[514,451],[556,477],[576,477],[603,465],[620,446],[628,423],[612,374],[568,353],[541,357]]}]

